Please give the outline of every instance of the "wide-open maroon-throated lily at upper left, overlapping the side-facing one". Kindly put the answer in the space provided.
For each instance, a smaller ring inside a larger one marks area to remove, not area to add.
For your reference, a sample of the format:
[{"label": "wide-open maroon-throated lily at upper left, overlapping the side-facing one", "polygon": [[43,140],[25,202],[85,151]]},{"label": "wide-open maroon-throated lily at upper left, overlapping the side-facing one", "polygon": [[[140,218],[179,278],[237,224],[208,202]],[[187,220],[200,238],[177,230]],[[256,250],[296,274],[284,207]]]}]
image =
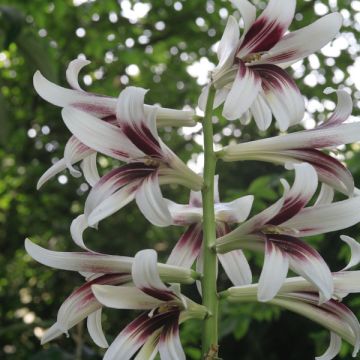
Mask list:
[{"label": "wide-open maroon-throated lily at upper left, overlapping the side-facing one", "polygon": [[[172,219],[164,206],[160,184],[180,184],[200,190],[202,177],[190,170],[159,138],[156,110],[144,113],[144,89],[128,87],[119,96],[116,119],[121,129],[75,108],[62,111],[65,124],[82,143],[127,164],[100,178],[91,189],[84,214],[74,220],[74,241],[86,248],[82,233],[120,210],[133,199],[144,216],[157,226]],[[91,167],[89,166],[89,169]],[[92,167],[92,178],[96,178]]]}]

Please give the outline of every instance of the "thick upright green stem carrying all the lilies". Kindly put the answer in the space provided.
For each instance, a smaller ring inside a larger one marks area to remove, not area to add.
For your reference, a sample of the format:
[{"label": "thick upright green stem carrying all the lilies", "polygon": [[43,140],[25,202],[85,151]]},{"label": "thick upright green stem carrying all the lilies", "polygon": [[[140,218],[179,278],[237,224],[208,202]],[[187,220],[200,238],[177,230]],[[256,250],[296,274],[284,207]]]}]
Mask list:
[{"label": "thick upright green stem carrying all the lilies", "polygon": [[202,352],[203,359],[216,359],[218,353],[218,296],[216,288],[217,258],[213,245],[216,240],[214,211],[214,176],[216,157],[213,148],[212,111],[215,89],[209,90],[203,121],[204,131],[204,187],[203,199],[203,232],[204,232],[204,270],[202,280],[203,305],[208,309],[204,320]]}]

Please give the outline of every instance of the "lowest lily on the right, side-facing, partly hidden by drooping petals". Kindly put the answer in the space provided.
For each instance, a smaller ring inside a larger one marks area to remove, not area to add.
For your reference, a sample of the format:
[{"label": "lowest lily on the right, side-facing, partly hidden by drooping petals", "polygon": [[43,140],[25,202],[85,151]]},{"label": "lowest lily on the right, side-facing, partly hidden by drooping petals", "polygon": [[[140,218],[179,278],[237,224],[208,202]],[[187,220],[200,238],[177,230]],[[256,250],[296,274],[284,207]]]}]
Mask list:
[{"label": "lowest lily on the right, side-facing, partly hidden by drooping petals", "polygon": [[[330,330],[330,345],[316,360],[331,360],[340,351],[342,339],[354,346],[353,357],[360,349],[360,324],[349,308],[340,303],[350,293],[360,292],[359,271],[348,271],[360,262],[360,245],[348,236],[341,236],[352,253],[349,264],[339,272],[332,273],[334,298],[319,304],[314,284],[302,277],[288,278],[270,304],[305,316]],[[232,287],[222,293],[230,302],[255,301],[259,284]]]}]

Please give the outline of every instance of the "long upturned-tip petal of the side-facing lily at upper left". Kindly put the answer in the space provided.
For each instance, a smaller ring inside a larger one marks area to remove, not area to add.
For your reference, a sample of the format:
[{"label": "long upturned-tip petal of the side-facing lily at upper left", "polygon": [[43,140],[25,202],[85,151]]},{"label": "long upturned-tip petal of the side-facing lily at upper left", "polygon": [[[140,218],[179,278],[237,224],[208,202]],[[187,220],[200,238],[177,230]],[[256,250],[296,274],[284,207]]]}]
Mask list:
[{"label": "long upturned-tip petal of the side-facing lily at upper left", "polygon": [[56,106],[72,106],[101,117],[115,114],[114,98],[63,88],[45,79],[39,71],[34,74],[33,83],[36,92]]}]

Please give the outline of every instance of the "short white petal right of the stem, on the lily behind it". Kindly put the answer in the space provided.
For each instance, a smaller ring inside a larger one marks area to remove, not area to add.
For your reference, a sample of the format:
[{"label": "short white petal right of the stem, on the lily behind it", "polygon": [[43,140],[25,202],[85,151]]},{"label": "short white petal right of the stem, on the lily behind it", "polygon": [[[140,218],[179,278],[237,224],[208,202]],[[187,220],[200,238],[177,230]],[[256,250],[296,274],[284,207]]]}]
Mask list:
[{"label": "short white petal right of the stem, on the lily behind it", "polygon": [[217,221],[225,223],[241,223],[250,214],[254,196],[243,196],[229,203],[215,204],[215,217]]}]

